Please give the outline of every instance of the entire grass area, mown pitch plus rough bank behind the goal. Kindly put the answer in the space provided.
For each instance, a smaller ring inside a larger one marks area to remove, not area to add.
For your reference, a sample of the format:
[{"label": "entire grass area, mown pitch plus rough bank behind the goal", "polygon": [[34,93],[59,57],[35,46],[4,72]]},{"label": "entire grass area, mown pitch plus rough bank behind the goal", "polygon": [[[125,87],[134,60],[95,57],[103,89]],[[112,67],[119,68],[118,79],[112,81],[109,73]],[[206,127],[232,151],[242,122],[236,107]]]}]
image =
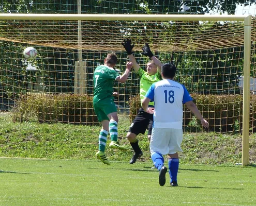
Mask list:
[{"label": "entire grass area, mown pitch plus rough bank behind the goal", "polygon": [[[142,159],[130,165],[127,116],[119,116],[119,142],[106,147],[111,165],[95,158],[99,126],[13,123],[0,113],[0,205],[256,205],[256,135],[251,166],[242,167],[242,136],[184,133],[178,187],[158,183],[158,171],[140,135]],[[108,139],[109,143],[109,139]]]}]

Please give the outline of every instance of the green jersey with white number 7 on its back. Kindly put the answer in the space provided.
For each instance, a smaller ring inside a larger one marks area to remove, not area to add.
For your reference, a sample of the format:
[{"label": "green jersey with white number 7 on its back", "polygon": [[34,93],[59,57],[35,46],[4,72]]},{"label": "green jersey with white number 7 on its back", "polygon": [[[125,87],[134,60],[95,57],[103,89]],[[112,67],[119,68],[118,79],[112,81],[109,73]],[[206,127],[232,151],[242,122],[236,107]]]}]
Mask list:
[{"label": "green jersey with white number 7 on its back", "polygon": [[119,77],[113,68],[100,65],[97,66],[94,71],[93,82],[94,82],[94,97],[93,102],[97,103],[99,100],[113,97],[113,80]]}]

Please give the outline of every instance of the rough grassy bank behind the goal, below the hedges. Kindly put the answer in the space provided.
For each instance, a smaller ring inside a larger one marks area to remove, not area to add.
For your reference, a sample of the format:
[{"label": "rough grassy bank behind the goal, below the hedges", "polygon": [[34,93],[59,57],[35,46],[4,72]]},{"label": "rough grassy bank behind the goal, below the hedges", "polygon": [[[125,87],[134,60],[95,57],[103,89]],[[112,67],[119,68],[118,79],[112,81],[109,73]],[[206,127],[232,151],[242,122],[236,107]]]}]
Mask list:
[{"label": "rough grassy bank behind the goal, below the hedges", "polygon": [[[119,142],[128,150],[118,151],[106,147],[110,161],[129,161],[132,149],[126,139],[130,122],[119,115]],[[98,149],[100,126],[69,124],[13,123],[10,113],[0,113],[0,157],[91,159]],[[151,161],[147,135],[139,135],[144,152],[139,161]],[[250,135],[250,164],[256,163],[256,135]],[[242,136],[221,133],[184,133],[180,162],[186,164],[225,164],[242,162]]]}]

